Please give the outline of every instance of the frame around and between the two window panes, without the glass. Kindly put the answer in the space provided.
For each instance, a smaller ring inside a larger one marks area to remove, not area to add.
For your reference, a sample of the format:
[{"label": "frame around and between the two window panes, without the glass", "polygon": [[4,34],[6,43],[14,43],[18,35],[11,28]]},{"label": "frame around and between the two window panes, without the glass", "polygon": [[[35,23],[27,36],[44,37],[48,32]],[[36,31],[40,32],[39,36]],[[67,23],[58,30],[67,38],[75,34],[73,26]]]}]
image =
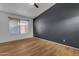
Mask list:
[{"label": "frame around and between the two window panes, without the glass", "polygon": [[[18,19],[18,18],[12,18],[12,17],[8,17],[9,18],[9,33],[10,34],[17,34],[17,35],[21,35],[21,34],[26,34],[26,33],[28,33],[29,32],[29,20],[24,20],[24,19]],[[19,33],[12,33],[11,31],[10,31],[10,21],[11,20],[17,20],[18,22],[18,24],[19,25],[17,25],[17,26],[19,26]],[[26,22],[27,23],[27,30],[25,30],[26,32],[25,33],[21,33],[21,21],[24,21],[24,22]]]}]

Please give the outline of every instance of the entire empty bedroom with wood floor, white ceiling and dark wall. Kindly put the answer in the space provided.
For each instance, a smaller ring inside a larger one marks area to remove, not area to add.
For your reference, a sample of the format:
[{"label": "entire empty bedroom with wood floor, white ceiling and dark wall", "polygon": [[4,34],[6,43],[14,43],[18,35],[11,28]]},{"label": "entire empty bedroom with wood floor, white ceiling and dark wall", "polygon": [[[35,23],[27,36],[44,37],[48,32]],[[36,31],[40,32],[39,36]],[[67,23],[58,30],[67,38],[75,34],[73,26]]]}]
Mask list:
[{"label": "entire empty bedroom with wood floor, white ceiling and dark wall", "polygon": [[79,3],[0,3],[0,56],[79,56]]}]

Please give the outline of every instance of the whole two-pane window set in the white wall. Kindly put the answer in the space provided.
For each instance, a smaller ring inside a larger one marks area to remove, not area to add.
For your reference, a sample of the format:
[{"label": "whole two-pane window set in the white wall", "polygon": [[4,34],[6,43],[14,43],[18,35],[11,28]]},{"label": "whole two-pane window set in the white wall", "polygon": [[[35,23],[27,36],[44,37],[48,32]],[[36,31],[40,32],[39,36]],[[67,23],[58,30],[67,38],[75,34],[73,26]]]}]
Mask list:
[{"label": "whole two-pane window set in the white wall", "polygon": [[28,21],[9,18],[9,32],[11,34],[28,33]]}]

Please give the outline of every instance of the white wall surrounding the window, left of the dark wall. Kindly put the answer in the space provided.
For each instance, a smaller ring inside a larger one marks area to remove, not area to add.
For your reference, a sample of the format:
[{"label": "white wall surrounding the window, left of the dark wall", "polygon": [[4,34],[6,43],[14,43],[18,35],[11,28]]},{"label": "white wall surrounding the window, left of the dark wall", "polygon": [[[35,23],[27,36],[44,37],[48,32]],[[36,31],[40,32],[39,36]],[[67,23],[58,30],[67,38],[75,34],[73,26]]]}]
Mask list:
[{"label": "white wall surrounding the window, left of the dark wall", "polygon": [[[22,35],[11,35],[9,33],[9,19],[8,16],[11,17],[19,17],[21,19],[29,20],[29,33]],[[10,13],[0,12],[0,43],[20,40],[23,38],[33,37],[33,20],[30,18],[26,18],[23,16],[17,16]]]}]

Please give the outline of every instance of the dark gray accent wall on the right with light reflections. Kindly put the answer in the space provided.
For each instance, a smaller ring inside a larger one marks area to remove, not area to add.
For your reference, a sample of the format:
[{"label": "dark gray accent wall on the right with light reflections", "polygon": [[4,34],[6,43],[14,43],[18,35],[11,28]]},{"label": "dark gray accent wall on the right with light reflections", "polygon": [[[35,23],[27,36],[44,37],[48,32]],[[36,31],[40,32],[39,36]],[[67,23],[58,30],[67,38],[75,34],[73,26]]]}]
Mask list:
[{"label": "dark gray accent wall on the right with light reflections", "polygon": [[34,36],[79,48],[79,4],[58,3],[35,18]]}]

